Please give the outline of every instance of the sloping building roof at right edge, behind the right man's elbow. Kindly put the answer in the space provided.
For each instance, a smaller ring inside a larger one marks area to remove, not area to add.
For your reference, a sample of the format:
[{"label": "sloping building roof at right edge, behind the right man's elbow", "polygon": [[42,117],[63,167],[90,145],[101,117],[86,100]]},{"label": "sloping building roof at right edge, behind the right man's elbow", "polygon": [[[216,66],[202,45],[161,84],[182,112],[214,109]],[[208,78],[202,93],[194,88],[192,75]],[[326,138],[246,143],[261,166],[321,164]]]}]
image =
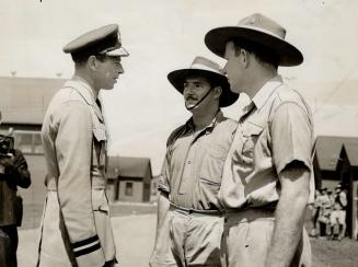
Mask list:
[{"label": "sloping building roof at right edge, behind the right man's elbow", "polygon": [[315,153],[321,171],[335,171],[343,144],[351,147],[358,146],[357,137],[334,137],[319,136],[315,144]]}]

